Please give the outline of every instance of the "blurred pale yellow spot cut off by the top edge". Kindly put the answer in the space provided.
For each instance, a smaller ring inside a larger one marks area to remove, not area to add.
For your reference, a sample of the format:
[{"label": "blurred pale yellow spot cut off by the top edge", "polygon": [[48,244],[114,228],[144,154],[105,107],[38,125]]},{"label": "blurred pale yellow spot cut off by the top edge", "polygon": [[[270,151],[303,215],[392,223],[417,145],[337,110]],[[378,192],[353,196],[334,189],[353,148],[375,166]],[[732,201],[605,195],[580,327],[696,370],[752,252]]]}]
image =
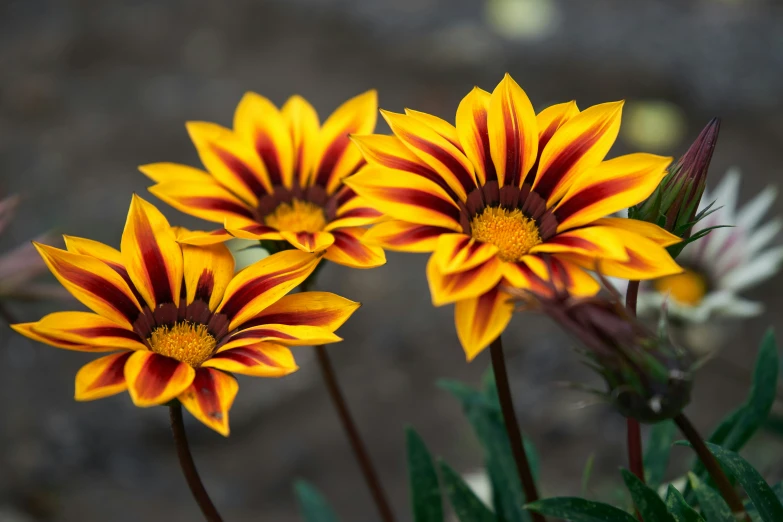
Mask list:
[{"label": "blurred pale yellow spot cut off by the top edge", "polygon": [[560,12],[552,0],[489,0],[485,17],[506,38],[541,39],[555,32]]}]

